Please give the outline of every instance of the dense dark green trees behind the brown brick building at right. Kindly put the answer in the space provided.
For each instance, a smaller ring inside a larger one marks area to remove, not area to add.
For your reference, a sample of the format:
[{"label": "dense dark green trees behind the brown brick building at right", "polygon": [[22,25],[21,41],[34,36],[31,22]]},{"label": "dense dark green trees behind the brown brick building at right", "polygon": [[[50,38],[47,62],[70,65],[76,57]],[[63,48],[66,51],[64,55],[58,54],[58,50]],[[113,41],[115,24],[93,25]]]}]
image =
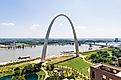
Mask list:
[{"label": "dense dark green trees behind the brown brick building at right", "polygon": [[93,54],[86,57],[86,60],[92,63],[107,63],[111,65],[117,65],[117,58],[121,57],[120,48],[109,48],[106,50],[98,50]]}]

